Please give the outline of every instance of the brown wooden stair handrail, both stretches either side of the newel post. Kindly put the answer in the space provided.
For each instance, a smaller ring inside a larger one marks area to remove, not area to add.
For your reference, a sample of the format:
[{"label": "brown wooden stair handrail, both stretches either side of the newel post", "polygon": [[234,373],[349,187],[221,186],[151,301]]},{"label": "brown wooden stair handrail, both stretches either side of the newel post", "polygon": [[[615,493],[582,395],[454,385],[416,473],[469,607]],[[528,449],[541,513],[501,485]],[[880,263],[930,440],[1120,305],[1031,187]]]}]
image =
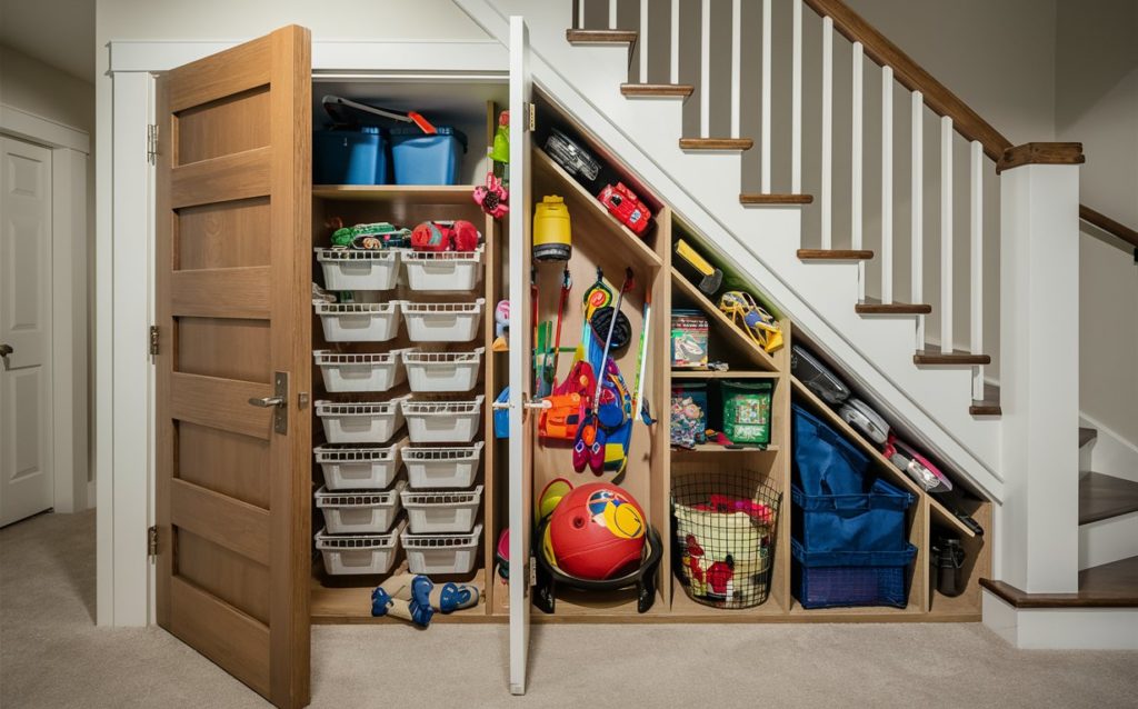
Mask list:
[{"label": "brown wooden stair handrail, both stretches either side of the newel post", "polygon": [[[924,102],[937,115],[953,119],[953,127],[967,140],[980,141],[984,155],[998,165],[1004,154],[1013,147],[1012,141],[980,117],[967,104],[937,81],[920,64],[893,44],[889,38],[865,20],[841,0],[802,0],[822,17],[830,17],[834,28],[851,42],[860,42],[865,55],[880,66],[893,69],[893,77],[909,91],[920,91]],[[1086,205],[1079,205],[1079,217],[1103,231],[1138,247],[1138,231],[1120,224]]]}]

